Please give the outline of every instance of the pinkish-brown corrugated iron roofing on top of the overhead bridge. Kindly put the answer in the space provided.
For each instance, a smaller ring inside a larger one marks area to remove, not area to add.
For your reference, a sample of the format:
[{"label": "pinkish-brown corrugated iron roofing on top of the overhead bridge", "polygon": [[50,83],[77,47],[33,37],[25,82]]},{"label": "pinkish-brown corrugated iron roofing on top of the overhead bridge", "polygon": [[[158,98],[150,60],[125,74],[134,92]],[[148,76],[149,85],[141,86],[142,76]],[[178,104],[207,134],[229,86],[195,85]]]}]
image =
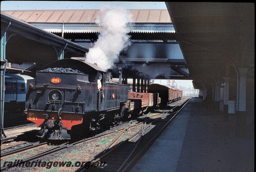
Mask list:
[{"label": "pinkish-brown corrugated iron roofing on top of the overhead bridge", "polygon": [[[167,10],[129,10],[134,23],[172,23]],[[95,23],[100,10],[1,11],[28,23]]]}]

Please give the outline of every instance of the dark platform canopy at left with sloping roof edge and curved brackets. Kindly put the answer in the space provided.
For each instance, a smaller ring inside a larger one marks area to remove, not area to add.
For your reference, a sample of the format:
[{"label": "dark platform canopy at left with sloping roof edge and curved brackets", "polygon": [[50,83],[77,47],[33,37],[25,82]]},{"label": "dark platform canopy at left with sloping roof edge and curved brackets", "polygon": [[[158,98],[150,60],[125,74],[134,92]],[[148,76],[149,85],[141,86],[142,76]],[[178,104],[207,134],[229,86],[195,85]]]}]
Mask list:
[{"label": "dark platform canopy at left with sloping roof edge and curved brackets", "polygon": [[[3,41],[5,39],[5,42]],[[3,43],[2,43],[3,42]],[[61,58],[85,56],[88,49],[23,20],[1,13],[1,60],[48,64]]]}]

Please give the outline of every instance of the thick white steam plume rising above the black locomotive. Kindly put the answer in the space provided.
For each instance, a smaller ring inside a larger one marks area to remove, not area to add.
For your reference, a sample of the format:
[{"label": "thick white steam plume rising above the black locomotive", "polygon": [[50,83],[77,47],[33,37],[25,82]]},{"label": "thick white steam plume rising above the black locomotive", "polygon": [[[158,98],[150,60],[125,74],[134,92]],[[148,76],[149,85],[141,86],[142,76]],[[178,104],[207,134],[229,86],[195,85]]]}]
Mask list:
[{"label": "thick white steam plume rising above the black locomotive", "polygon": [[101,32],[86,54],[85,61],[97,63],[100,68],[107,70],[118,61],[119,53],[131,43],[127,25],[132,22],[132,14],[122,7],[104,9],[95,22],[102,27]]}]

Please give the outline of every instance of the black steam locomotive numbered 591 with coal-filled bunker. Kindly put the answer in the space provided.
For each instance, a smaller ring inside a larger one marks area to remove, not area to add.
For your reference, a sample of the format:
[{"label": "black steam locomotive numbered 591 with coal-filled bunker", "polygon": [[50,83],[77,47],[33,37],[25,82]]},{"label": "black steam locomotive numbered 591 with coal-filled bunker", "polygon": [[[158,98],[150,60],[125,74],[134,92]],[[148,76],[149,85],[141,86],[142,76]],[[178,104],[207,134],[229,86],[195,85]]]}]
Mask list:
[{"label": "black steam locomotive numbered 591 with coal-filled bunker", "polygon": [[80,60],[57,60],[28,80],[27,119],[41,127],[42,138],[70,139],[71,131],[94,131],[104,118],[116,122],[132,111],[128,92],[128,85],[112,81],[111,71]]}]

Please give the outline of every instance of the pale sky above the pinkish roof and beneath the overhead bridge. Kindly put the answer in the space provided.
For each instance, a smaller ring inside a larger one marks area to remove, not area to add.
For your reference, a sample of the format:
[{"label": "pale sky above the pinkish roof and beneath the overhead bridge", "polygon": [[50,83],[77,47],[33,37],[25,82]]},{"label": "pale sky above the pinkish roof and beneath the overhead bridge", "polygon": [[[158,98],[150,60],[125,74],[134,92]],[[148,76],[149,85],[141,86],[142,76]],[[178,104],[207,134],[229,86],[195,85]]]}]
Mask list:
[{"label": "pale sky above the pinkish roof and beneath the overhead bridge", "polygon": [[[167,9],[165,2],[128,1],[1,1],[1,10],[86,10],[102,6],[122,6],[125,9]],[[155,79],[154,83],[166,85],[167,81]],[[192,87],[192,80],[175,80],[175,85]]]}]

